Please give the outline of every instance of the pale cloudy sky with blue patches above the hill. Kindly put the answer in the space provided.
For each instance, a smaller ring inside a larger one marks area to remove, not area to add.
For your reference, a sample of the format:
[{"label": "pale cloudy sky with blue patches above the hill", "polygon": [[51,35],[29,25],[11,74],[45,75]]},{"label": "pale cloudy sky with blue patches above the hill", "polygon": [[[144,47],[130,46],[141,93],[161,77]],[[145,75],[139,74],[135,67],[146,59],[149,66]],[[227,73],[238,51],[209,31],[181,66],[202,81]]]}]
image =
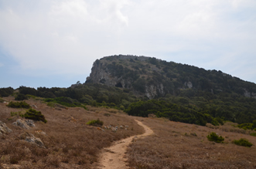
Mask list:
[{"label": "pale cloudy sky with blue patches above the hill", "polygon": [[0,88],[84,83],[119,54],[256,83],[256,1],[0,0]]}]

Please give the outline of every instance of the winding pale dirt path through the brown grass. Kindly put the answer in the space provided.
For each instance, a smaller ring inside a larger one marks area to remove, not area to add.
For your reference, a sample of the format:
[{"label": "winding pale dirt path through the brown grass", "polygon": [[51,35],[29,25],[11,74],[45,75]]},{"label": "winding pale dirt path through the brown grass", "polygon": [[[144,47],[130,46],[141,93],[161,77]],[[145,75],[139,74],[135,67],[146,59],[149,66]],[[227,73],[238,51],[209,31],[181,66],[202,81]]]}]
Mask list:
[{"label": "winding pale dirt path through the brown grass", "polygon": [[153,134],[153,130],[151,130],[149,127],[144,125],[142,122],[135,120],[138,125],[142,126],[145,130],[144,134],[132,136],[125,138],[123,140],[119,140],[117,142],[114,142],[114,144],[111,147],[105,148],[104,153],[100,155],[101,161],[100,161],[100,167],[98,168],[109,168],[109,169],[123,169],[128,168],[125,163],[125,152],[127,150],[128,145],[131,143],[132,140],[137,140],[138,138],[146,137],[148,135]]}]

